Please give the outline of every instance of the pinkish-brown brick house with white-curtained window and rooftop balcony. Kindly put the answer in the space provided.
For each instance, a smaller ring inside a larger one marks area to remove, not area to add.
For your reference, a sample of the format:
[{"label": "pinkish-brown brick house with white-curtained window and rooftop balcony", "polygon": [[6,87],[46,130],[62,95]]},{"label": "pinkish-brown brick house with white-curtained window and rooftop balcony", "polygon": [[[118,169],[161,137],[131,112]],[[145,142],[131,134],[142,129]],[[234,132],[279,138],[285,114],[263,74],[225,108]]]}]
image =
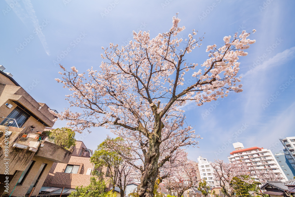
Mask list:
[{"label": "pinkish-brown brick house with white-curtained window and rooftop balcony", "polygon": [[90,184],[94,169],[90,162],[92,150],[87,149],[82,141],[76,141],[73,154],[68,163],[53,163],[43,187],[72,188]]}]

